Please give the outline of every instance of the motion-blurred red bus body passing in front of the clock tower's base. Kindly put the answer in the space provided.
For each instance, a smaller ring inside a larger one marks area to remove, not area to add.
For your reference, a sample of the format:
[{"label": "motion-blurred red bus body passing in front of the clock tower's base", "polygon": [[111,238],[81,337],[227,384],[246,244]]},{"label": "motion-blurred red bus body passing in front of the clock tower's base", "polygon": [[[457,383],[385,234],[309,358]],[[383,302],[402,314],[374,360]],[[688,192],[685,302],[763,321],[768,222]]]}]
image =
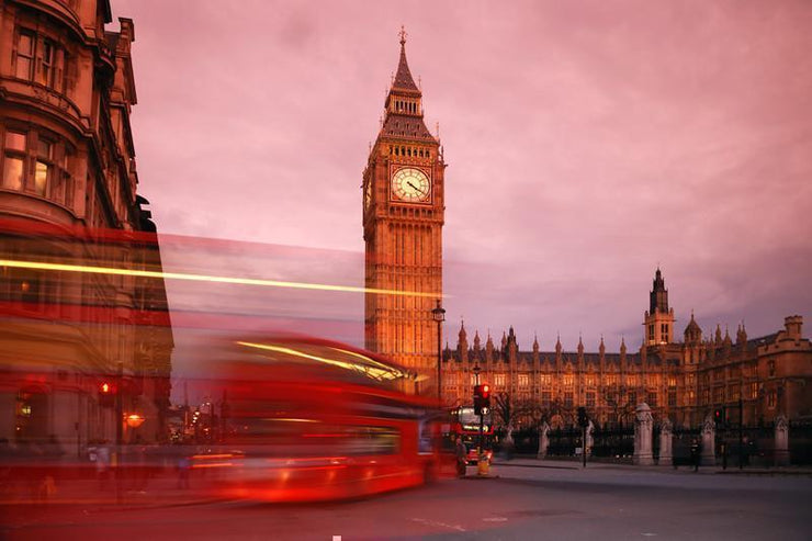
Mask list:
[{"label": "motion-blurred red bus body passing in front of the clock tower's base", "polygon": [[312,338],[235,340],[212,350],[222,387],[218,443],[192,457],[226,498],[353,498],[426,483],[439,472],[436,404],[397,390],[403,369]]}]

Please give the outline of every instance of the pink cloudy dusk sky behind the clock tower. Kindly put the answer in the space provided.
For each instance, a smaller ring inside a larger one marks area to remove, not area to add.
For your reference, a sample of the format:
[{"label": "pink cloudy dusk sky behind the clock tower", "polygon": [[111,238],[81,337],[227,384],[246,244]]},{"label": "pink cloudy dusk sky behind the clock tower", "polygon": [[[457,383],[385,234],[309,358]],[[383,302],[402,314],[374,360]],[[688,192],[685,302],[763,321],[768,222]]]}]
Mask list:
[{"label": "pink cloudy dusk sky behind the clock tower", "polygon": [[[139,192],[163,234],[312,248],[324,280],[362,284],[403,24],[449,165],[452,346],[464,317],[521,349],[636,349],[657,264],[680,340],[691,309],[706,333],[800,314],[810,336],[812,2],[112,5],[135,23]],[[360,294],[341,303],[362,320]]]}]

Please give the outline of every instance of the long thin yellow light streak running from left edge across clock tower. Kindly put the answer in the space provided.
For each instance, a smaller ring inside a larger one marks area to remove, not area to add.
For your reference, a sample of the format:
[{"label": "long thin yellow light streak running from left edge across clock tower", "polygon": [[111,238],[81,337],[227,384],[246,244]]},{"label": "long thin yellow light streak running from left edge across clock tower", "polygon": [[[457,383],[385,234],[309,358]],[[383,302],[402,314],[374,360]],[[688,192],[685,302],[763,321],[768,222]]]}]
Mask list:
[{"label": "long thin yellow light streak running from left edge across clock tower", "polygon": [[380,295],[399,295],[439,298],[443,295],[438,293],[421,293],[419,291],[381,290],[375,288],[358,288],[354,285],[332,285],[307,282],[287,282],[281,280],[264,280],[257,278],[216,277],[210,274],[190,274],[185,272],[157,272],[136,269],[120,269],[116,267],[94,267],[87,264],[45,263],[41,261],[19,261],[14,259],[0,259],[0,267],[12,267],[15,269],[34,269],[65,272],[83,272],[88,274],[113,274],[117,277],[155,278],[161,280],[185,280],[190,282],[215,282],[238,285],[261,285],[266,288],[292,288],[297,290],[315,291],[339,291],[349,293],[375,293]]}]

